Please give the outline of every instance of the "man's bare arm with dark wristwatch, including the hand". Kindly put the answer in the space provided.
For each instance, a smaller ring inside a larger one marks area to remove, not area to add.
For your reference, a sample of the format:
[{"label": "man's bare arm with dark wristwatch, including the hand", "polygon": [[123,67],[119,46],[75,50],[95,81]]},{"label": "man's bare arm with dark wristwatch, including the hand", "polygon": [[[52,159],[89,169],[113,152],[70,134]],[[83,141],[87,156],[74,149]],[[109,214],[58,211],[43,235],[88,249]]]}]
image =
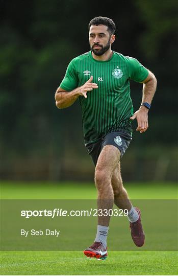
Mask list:
[{"label": "man's bare arm with dark wristwatch, including the hand", "polygon": [[151,104],[152,98],[154,97],[157,88],[157,79],[155,75],[148,70],[148,76],[143,80],[143,96],[139,110],[130,118],[131,120],[137,119],[138,127],[136,131],[143,133],[148,128],[148,108],[142,105],[142,103]]}]

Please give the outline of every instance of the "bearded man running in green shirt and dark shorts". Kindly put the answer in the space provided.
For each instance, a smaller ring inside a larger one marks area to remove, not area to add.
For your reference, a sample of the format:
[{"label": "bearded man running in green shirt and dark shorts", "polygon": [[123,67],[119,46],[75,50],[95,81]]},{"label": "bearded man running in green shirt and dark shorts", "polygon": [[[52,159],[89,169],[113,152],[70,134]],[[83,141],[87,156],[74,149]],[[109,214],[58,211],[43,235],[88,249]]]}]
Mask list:
[{"label": "bearded man running in green shirt and dark shorts", "polygon": [[[134,208],[123,188],[120,158],[132,140],[131,121],[137,131],[148,128],[148,110],[157,80],[135,58],[111,50],[115,24],[107,17],[95,17],[89,23],[91,51],[71,60],[56,91],[56,106],[66,108],[77,99],[82,108],[84,141],[95,165],[98,209],[110,210],[115,203],[128,210],[131,236],[136,246],[144,244],[140,210]],[[133,114],[130,79],[143,83],[142,102]],[[106,259],[110,217],[98,216],[94,243],[84,250],[88,257]]]}]

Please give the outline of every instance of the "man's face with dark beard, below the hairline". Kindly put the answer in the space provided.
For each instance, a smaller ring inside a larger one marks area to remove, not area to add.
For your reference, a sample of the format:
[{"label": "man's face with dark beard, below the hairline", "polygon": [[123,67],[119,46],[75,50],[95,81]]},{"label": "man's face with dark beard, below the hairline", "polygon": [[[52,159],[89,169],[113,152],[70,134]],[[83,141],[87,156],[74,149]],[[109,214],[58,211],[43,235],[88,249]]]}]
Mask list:
[{"label": "man's face with dark beard, below the hairline", "polygon": [[89,42],[92,52],[96,56],[103,55],[108,49],[110,49],[111,43],[113,43],[114,35],[110,35],[108,27],[105,25],[92,25],[89,30]]}]

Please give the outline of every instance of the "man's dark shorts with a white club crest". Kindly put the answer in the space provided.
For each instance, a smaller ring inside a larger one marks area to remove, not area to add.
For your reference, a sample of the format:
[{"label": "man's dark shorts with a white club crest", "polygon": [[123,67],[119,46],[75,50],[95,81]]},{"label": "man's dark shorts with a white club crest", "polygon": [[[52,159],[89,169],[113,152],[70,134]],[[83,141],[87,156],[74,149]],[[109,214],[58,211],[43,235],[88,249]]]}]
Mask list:
[{"label": "man's dark shorts with a white club crest", "polygon": [[113,145],[116,148],[118,148],[120,150],[121,157],[122,157],[126,149],[129,147],[131,140],[132,140],[132,136],[129,135],[128,133],[115,131],[115,132],[106,134],[95,143],[90,143],[85,146],[88,150],[88,154],[90,154],[93,160],[94,165],[96,166],[99,154],[106,145]]}]

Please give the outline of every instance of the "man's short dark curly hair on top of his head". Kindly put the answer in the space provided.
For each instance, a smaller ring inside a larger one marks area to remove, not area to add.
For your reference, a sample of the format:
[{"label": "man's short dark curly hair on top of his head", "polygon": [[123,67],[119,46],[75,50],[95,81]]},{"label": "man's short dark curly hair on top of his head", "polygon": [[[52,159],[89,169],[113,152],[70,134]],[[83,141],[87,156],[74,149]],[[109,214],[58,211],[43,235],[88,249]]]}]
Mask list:
[{"label": "man's short dark curly hair on top of his head", "polygon": [[90,30],[91,25],[105,25],[108,27],[108,32],[112,35],[115,33],[116,30],[116,26],[115,23],[112,19],[108,18],[108,17],[103,17],[103,16],[98,16],[95,17],[93,19],[91,19],[89,25],[88,25],[88,29]]}]

